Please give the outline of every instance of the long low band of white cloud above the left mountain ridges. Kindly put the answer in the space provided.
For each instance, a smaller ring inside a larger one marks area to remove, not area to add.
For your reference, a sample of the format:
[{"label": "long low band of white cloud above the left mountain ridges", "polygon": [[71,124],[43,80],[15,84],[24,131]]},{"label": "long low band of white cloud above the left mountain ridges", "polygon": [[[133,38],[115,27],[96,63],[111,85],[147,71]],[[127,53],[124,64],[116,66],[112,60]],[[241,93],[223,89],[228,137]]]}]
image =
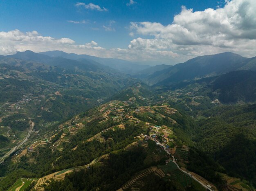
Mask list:
[{"label": "long low band of white cloud above the left mountain ridges", "polygon": [[[113,22],[112,22],[113,23]],[[74,40],[69,38],[59,38],[43,36],[37,31],[21,32],[13,30],[8,32],[0,32],[0,55],[15,54],[17,51],[32,50],[34,52],[43,52],[49,50],[63,50],[67,53],[87,54],[97,57],[112,57],[126,59],[131,61],[155,61],[170,62],[170,59],[176,59],[177,55],[172,51],[159,51],[153,48],[149,50],[136,50],[132,48],[105,49],[98,45],[97,42],[91,41],[85,44],[76,44]],[[176,63],[177,61],[173,61]],[[147,64],[150,64],[148,62]]]}]

